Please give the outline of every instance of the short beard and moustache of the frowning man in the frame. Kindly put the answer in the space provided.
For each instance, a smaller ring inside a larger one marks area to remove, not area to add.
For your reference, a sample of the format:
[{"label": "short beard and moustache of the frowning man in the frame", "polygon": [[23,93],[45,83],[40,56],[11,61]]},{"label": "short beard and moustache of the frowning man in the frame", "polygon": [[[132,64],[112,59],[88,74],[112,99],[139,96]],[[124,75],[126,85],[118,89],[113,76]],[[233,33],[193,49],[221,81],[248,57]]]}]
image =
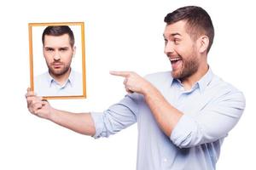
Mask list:
[{"label": "short beard and moustache of the frowning man in the frame", "polygon": [[[63,68],[55,69],[54,68],[55,64],[61,65]],[[54,77],[60,77],[64,74],[66,74],[70,70],[70,64],[65,65],[63,62],[60,62],[60,61],[54,61],[50,64],[47,63],[47,65],[48,65],[48,68],[49,68],[49,74],[54,76]]]}]

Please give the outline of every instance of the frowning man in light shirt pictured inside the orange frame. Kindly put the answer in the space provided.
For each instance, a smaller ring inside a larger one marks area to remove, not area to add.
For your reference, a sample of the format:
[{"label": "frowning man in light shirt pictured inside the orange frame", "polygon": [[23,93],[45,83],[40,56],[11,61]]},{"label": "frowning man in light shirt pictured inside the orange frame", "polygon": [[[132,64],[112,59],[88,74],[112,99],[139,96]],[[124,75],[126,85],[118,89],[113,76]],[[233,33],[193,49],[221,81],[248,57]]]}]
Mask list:
[{"label": "frowning man in light shirt pictured inside the orange frame", "polygon": [[82,75],[70,67],[76,52],[73,31],[69,26],[48,26],[42,41],[48,71],[35,77],[36,93],[40,96],[81,95]]}]

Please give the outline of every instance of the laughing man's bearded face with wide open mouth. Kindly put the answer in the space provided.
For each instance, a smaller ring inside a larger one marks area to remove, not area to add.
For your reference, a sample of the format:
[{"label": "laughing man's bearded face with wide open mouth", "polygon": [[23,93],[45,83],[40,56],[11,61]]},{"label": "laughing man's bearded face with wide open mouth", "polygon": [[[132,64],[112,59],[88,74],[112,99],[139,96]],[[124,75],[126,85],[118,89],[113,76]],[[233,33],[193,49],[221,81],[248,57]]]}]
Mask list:
[{"label": "laughing man's bearded face with wide open mouth", "polygon": [[196,43],[186,31],[186,21],[166,26],[165,54],[172,64],[172,77],[185,79],[192,76],[200,65]]}]

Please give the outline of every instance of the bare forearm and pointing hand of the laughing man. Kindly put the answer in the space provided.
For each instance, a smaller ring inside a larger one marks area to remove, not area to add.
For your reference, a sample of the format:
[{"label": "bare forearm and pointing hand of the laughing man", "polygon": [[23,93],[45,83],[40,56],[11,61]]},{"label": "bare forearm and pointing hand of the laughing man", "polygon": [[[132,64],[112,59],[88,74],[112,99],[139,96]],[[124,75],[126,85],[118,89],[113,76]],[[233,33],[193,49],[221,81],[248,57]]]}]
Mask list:
[{"label": "bare forearm and pointing hand of the laughing man", "polygon": [[143,94],[148,107],[154,115],[154,119],[162,131],[167,136],[170,136],[172,129],[183,116],[183,113],[170,105],[150,82],[137,75],[137,73],[131,71],[111,71],[110,74],[125,77],[124,85],[128,93],[136,92]]}]

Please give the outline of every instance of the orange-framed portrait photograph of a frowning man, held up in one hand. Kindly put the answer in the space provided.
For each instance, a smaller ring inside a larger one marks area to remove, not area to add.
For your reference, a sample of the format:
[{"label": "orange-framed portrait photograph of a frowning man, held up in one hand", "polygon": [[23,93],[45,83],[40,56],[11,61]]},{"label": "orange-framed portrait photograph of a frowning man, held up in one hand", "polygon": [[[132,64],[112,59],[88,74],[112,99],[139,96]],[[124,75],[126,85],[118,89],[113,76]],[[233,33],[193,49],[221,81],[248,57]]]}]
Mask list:
[{"label": "orange-framed portrait photograph of a frowning man, held up in one hand", "polygon": [[30,84],[43,99],[86,98],[84,22],[29,23]]}]

